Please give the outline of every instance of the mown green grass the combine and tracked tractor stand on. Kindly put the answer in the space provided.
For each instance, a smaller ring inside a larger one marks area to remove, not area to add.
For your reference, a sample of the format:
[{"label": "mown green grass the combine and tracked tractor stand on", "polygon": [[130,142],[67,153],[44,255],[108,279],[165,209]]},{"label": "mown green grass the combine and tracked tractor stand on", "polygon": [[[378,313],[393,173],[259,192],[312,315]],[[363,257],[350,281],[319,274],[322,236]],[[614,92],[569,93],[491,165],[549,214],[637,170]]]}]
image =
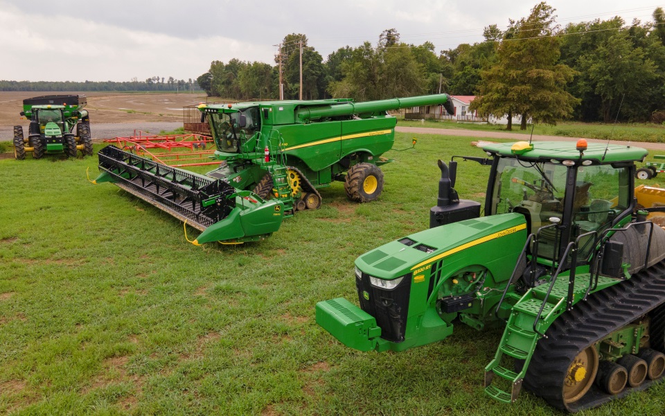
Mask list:
[{"label": "mown green grass the combine and tracked tractor stand on", "polygon": [[[456,324],[378,354],[315,324],[316,302],[357,303],[356,257],[427,227],[436,159],[484,155],[464,137],[418,139],[388,154],[378,201],[348,202],[335,183],[266,241],[202,248],[175,218],[90,184],[96,157],[0,160],[0,414],[555,413],[528,392],[511,406],[484,395],[499,329]],[[461,198],[482,200],[487,172],[461,162]],[[665,384],[583,414],[663,413]]]}]

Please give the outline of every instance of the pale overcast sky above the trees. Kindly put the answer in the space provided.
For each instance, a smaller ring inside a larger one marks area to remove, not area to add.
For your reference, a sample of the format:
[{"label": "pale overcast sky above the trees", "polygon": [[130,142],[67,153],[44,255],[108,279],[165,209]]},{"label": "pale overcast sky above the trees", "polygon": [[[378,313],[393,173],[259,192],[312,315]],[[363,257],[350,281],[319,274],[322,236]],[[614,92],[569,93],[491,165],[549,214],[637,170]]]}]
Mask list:
[{"label": "pale overcast sky above the trees", "polygon": [[[562,26],[619,15],[651,21],[654,0],[558,0]],[[656,0],[657,1],[657,0]],[[485,26],[520,19],[538,1],[0,0],[0,80],[129,81],[196,78],[213,60],[274,62],[276,44],[303,33],[325,60],[342,46],[402,42],[436,53],[483,40]],[[664,7],[665,8],[665,7]]]}]

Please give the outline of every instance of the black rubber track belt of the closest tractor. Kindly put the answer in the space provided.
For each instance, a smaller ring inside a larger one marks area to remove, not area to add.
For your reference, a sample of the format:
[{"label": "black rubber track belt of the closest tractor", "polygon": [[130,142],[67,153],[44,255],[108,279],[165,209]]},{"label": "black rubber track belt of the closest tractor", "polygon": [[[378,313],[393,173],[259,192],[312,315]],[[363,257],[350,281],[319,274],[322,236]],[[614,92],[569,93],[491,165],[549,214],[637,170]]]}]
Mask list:
[{"label": "black rubber track belt of the closest tractor", "polygon": [[[556,319],[545,335],[538,341],[529,369],[524,377],[524,386],[545,399],[551,406],[569,412],[599,406],[612,399],[626,396],[635,390],[648,388],[653,381],[645,381],[637,388],[625,388],[618,395],[609,395],[597,385],[580,400],[563,402],[563,381],[568,367],[583,349],[601,340],[665,302],[665,261],[637,272],[630,279],[589,295],[586,301],[578,302],[572,311]],[[660,331],[653,339],[653,347],[662,350],[665,308],[653,313],[651,331]],[[660,345],[658,345],[660,343]],[[662,379],[660,379],[662,380]]]}]

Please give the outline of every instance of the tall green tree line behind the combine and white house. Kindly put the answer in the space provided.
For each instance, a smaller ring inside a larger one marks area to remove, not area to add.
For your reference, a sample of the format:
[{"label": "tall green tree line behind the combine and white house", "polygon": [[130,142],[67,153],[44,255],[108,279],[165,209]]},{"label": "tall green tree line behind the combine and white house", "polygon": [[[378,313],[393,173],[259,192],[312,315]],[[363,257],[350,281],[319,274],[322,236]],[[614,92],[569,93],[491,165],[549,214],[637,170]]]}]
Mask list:
[{"label": "tall green tree line behind the combine and white house", "polygon": [[[287,35],[275,62],[213,61],[197,78],[209,96],[278,98],[279,56],[284,96],[356,101],[436,94],[476,95],[472,110],[526,120],[656,121],[665,119],[665,15],[653,21],[621,17],[561,27],[555,10],[538,3],[506,29],[484,28],[483,42],[435,51],[432,42],[407,44],[396,29],[376,44],[344,46],[325,62],[305,35]],[[620,108],[619,108],[620,107]],[[524,128],[524,125],[522,126]]]}]

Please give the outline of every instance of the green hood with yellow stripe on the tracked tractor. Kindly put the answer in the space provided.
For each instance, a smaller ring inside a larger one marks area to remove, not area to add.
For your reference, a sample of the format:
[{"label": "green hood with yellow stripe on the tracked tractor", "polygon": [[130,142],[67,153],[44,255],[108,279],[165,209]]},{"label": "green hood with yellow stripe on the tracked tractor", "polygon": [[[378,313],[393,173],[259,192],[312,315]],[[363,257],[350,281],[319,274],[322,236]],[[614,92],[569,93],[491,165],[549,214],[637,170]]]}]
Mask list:
[{"label": "green hood with yellow stripe on the tracked tractor", "polygon": [[355,266],[380,279],[397,279],[452,254],[526,229],[521,214],[502,214],[441,225],[363,254]]}]

